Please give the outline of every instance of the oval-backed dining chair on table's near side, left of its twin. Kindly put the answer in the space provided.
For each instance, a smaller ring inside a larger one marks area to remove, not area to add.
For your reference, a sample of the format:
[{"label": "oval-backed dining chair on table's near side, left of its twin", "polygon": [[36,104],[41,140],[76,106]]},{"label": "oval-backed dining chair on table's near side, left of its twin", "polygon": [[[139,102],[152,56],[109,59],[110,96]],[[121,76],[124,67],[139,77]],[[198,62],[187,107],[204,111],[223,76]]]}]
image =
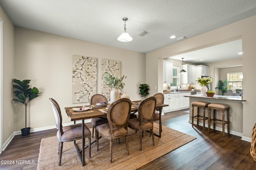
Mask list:
[{"label": "oval-backed dining chair on table's near side, left of its twin", "polygon": [[99,134],[100,136],[110,140],[110,162],[112,162],[113,139],[118,139],[118,142],[120,142],[120,138],[125,137],[126,153],[129,155],[127,134],[131,106],[131,101],[127,98],[114,101],[108,108],[108,123],[98,125],[95,128],[97,151],[99,150]]}]

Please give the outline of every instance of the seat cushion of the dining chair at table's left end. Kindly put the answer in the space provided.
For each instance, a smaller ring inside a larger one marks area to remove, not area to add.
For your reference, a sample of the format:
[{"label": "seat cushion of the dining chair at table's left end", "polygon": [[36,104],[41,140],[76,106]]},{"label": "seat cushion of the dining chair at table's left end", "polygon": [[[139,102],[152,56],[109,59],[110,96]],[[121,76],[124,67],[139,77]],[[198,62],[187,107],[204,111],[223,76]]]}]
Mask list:
[{"label": "seat cushion of the dining chair at table's left end", "polygon": [[[61,136],[61,140],[62,141],[65,141],[65,140],[73,141],[73,140],[77,140],[77,138],[81,138],[81,136],[82,136],[81,127],[82,127],[81,123],[62,127],[62,130],[64,133]],[[87,137],[88,134],[91,134],[91,132],[87,126],[84,126],[84,136]],[[57,132],[57,138],[58,139],[60,138],[59,132]]]}]

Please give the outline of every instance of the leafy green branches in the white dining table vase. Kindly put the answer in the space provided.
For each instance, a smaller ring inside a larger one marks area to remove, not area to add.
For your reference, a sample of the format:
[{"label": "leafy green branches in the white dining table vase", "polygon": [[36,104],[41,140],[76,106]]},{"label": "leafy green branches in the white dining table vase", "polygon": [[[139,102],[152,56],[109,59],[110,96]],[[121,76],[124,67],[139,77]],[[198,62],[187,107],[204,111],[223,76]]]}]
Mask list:
[{"label": "leafy green branches in the white dining table vase", "polygon": [[106,72],[104,75],[104,80],[106,81],[106,85],[108,85],[111,89],[123,90],[124,83],[122,81],[126,79],[126,76],[116,77],[115,75],[111,75],[110,73]]}]

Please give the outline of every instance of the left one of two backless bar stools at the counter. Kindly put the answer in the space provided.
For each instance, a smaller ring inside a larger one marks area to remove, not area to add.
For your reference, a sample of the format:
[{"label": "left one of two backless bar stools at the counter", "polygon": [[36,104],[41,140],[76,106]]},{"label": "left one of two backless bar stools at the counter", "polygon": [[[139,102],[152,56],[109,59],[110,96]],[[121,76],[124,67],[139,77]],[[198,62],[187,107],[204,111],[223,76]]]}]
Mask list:
[{"label": "left one of two backless bar stools at the counter", "polygon": [[[203,130],[205,127],[205,120],[208,119],[208,117],[205,117],[205,108],[209,105],[210,103],[208,102],[202,102],[202,101],[194,101],[192,102],[192,127],[194,127],[194,118],[197,119],[197,125],[198,125],[198,119],[203,120]],[[194,107],[198,107],[197,108],[197,115],[194,116]],[[204,113],[203,116],[199,115],[199,108],[203,108],[204,109]]]}]

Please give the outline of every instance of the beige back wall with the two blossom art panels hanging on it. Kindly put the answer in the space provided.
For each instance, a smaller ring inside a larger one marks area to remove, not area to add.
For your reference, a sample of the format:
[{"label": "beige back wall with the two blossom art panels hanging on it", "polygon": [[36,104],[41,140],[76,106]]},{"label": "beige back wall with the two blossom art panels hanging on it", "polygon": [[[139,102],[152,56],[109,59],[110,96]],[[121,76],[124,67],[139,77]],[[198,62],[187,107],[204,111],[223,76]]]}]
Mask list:
[{"label": "beige back wall with the two blossom art panels hanging on it", "polygon": [[[40,128],[55,125],[55,119],[48,98],[54,98],[60,105],[63,123],[70,122],[64,107],[88,105],[72,104],[72,55],[84,55],[98,59],[97,92],[101,93],[101,60],[121,61],[124,92],[131,100],[140,100],[139,85],[146,82],[146,54],[56,36],[44,32],[15,28],[15,75],[17,79],[31,79],[31,86],[37,87],[42,95],[31,101],[28,126]],[[151,93],[151,92],[150,92]],[[24,127],[24,107],[16,103],[15,130]]]}]

